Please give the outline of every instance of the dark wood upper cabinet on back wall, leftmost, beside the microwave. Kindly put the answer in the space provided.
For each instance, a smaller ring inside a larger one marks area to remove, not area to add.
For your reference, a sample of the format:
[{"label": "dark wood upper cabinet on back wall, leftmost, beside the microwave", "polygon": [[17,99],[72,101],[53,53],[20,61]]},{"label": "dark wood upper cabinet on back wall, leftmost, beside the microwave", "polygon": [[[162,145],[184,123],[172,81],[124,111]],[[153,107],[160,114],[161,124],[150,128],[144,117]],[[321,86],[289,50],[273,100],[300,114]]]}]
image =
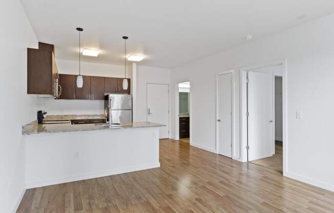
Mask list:
[{"label": "dark wood upper cabinet on back wall, leftmost, beside the microwave", "polygon": [[59,74],[58,84],[61,86],[59,99],[75,99],[76,75]]}]

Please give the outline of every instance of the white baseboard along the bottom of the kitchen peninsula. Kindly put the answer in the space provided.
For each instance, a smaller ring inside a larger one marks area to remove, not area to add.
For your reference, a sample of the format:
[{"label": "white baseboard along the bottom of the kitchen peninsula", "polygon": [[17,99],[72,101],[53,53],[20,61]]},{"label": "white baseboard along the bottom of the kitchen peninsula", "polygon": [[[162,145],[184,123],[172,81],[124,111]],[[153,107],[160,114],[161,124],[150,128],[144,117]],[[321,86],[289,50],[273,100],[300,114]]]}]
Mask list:
[{"label": "white baseboard along the bottom of the kitchen peninsula", "polygon": [[78,181],[78,180],[100,178],[100,177],[105,177],[105,176],[110,176],[110,175],[130,173],[130,172],[140,171],[140,170],[149,169],[149,168],[156,168],[156,167],[160,167],[159,162],[137,165],[137,166],[130,166],[126,168],[111,169],[108,171],[78,174],[78,175],[68,176],[68,177],[59,177],[59,178],[39,180],[39,181],[30,181],[30,182],[27,182],[27,188],[36,188],[36,187],[54,185],[54,184],[59,184],[59,183],[68,183],[68,182],[73,182],[73,181]]}]

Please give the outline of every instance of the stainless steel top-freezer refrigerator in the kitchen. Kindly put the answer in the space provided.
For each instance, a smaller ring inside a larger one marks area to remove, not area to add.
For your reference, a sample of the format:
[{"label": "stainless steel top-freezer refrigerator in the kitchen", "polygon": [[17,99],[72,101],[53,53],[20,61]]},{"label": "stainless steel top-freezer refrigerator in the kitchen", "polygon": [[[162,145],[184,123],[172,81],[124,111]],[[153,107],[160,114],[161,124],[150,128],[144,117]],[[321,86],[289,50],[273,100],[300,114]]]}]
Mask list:
[{"label": "stainless steel top-freezer refrigerator in the kitchen", "polygon": [[132,95],[109,94],[105,96],[105,117],[112,124],[132,122]]}]

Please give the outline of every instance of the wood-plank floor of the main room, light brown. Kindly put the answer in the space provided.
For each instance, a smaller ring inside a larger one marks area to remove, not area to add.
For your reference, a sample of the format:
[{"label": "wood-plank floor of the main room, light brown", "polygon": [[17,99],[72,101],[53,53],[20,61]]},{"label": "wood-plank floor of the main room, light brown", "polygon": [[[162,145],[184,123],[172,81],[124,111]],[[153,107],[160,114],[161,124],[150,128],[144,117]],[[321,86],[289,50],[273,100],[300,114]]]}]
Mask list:
[{"label": "wood-plank floor of the main room, light brown", "polygon": [[174,140],[160,168],[28,189],[17,212],[334,212],[334,193]]}]

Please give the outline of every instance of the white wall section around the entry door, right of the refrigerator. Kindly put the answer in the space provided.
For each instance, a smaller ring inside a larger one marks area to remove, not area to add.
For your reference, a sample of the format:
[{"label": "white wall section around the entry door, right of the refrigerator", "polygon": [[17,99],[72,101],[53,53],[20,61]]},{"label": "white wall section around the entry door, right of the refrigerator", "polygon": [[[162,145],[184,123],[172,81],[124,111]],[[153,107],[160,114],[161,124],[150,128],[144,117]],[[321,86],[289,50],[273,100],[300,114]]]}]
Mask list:
[{"label": "white wall section around the entry door, right of the refrigerator", "polygon": [[170,84],[170,82],[171,70],[169,69],[137,66],[137,121],[147,121],[147,84]]}]

